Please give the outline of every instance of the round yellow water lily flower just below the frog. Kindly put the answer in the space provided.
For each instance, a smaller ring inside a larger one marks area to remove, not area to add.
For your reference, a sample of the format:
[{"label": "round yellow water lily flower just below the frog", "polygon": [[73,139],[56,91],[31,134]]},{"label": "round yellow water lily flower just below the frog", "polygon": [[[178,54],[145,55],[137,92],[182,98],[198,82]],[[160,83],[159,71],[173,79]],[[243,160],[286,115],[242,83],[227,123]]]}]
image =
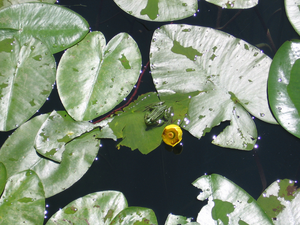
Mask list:
[{"label": "round yellow water lily flower just below the frog", "polygon": [[179,126],[171,124],[165,127],[161,137],[164,143],[174,147],[182,140],[182,130]]}]

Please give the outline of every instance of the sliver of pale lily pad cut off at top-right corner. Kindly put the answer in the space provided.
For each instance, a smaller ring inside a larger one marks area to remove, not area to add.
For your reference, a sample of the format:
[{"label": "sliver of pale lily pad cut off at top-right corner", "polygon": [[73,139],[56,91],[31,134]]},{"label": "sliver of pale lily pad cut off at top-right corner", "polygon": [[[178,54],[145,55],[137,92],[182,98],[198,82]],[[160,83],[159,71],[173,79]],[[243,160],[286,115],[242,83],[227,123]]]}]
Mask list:
[{"label": "sliver of pale lily pad cut off at top-right corner", "polygon": [[289,22],[300,35],[300,0],[284,0],[284,5]]}]

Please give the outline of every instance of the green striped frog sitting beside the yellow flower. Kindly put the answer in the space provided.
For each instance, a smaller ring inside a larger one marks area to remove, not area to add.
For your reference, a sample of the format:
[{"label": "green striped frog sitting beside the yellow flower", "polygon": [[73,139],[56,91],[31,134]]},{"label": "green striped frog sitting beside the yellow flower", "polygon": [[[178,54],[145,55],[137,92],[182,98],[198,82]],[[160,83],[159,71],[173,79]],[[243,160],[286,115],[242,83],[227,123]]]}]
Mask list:
[{"label": "green striped frog sitting beside the yellow flower", "polygon": [[145,110],[148,110],[144,116],[146,125],[161,126],[165,122],[170,123],[173,118],[173,107],[165,105],[165,101],[152,103]]}]

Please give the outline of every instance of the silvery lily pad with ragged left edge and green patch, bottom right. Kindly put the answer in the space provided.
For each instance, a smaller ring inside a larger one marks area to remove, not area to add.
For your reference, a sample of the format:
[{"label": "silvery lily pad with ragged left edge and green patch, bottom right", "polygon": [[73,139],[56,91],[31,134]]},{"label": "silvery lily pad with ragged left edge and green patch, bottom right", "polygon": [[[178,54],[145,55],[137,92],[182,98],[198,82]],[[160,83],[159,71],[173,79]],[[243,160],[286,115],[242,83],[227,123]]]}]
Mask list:
[{"label": "silvery lily pad with ragged left edge and green patch, bottom right", "polygon": [[197,199],[208,199],[207,205],[202,207],[196,219],[201,225],[273,224],[247,192],[220,175],[202,176],[193,185],[202,190]]}]

